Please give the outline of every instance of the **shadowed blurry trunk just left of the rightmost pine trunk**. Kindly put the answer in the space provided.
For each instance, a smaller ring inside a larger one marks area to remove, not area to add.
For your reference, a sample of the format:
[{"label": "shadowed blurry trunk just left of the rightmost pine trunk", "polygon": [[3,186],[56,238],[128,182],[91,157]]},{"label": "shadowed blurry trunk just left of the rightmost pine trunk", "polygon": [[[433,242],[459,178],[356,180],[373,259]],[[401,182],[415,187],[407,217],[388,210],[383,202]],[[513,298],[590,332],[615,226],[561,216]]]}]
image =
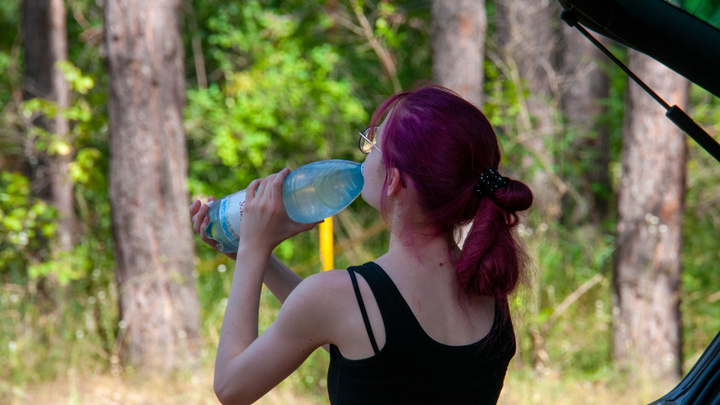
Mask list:
[{"label": "shadowed blurry trunk just left of the rightmost pine trunk", "polygon": [[[609,82],[597,65],[606,60],[605,55],[575,28],[562,25],[564,40],[562,72],[564,75],[562,112],[567,119],[567,128],[575,139],[569,148],[573,160],[584,162],[585,170],[580,181],[583,198],[587,205],[576,206],[571,218],[580,223],[589,218],[595,225],[608,214],[608,195],[612,189],[608,165],[610,163],[610,141],[607,125],[597,121],[606,108],[600,100],[608,97]],[[602,42],[609,42],[604,37]],[[599,185],[602,191],[596,192]]]}]

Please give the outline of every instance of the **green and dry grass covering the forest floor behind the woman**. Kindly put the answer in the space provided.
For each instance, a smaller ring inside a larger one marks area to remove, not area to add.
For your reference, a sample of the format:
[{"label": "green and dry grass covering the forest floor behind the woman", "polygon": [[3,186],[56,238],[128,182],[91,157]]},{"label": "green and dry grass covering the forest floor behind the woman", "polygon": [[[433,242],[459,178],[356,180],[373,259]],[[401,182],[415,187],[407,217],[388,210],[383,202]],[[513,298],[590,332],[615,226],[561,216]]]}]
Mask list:
[{"label": "green and dry grass covering the forest floor behind the woman", "polygon": [[[695,229],[713,226],[712,221],[688,219],[687,223]],[[630,384],[613,368],[609,279],[613,239],[600,232],[543,226],[533,217],[527,224],[523,238],[536,263],[537,277],[531,289],[512,300],[518,353],[500,403],[644,404],[669,391],[672,383]],[[367,227],[358,225],[358,229]],[[341,243],[354,237],[345,228],[336,236]],[[684,263],[685,371],[720,328],[717,305],[709,301],[720,289],[707,272],[712,268],[708,264],[716,260],[716,250],[709,250],[713,241],[692,232],[687,237],[693,242],[686,246],[687,255],[695,259]],[[371,259],[387,243],[386,238],[386,232],[381,232],[373,236],[376,245],[345,243],[336,265]],[[285,254],[296,261],[294,267],[303,275],[318,271],[313,252],[293,252],[291,248]],[[224,299],[232,281],[232,262],[200,249],[195,272],[202,307],[199,369],[169,380],[160,376],[141,379],[131,368],[113,362],[117,291],[109,272],[93,272],[68,285],[48,278],[15,280],[0,285],[0,364],[4,366],[0,368],[0,404],[217,403],[212,367]],[[702,254],[704,251],[712,254]],[[597,274],[603,276],[557,316],[561,303]],[[279,309],[280,303],[264,290],[261,330],[270,325]],[[549,328],[544,326],[551,321]],[[316,351],[261,403],[326,403],[328,363],[329,355]]]}]

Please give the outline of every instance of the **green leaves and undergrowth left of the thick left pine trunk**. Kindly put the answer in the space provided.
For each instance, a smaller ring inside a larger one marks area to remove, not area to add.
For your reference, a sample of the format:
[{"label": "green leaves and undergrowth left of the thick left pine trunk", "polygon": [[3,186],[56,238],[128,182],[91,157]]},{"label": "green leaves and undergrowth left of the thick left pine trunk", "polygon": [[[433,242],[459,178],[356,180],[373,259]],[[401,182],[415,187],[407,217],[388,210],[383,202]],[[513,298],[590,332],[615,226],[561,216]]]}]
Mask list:
[{"label": "green leaves and undergrowth left of the thick left pine trunk", "polygon": [[[60,109],[44,99],[19,103],[19,4],[0,1],[0,363],[6,365],[0,371],[0,402],[27,383],[68,370],[84,375],[108,370],[117,336],[106,80],[98,70],[99,51],[77,40],[72,33],[83,28],[68,19],[69,53],[75,63],[58,67],[73,90],[70,106]],[[75,17],[87,15],[92,23],[101,16],[94,1],[69,5]],[[37,117],[52,120],[57,114],[69,120],[66,138],[28,126]],[[74,183],[78,235],[70,252],[53,249],[58,215],[39,196],[46,185],[37,183],[36,170],[58,155],[70,158]]]}]

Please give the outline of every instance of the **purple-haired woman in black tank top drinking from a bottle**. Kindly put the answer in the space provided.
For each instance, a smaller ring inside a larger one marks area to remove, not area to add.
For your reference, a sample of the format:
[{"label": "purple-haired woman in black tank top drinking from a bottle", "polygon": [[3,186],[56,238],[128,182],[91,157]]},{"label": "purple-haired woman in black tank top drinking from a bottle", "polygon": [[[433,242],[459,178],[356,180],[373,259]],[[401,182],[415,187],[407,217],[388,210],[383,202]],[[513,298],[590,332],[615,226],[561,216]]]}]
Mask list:
[{"label": "purple-haired woman in black tank top drinking from a bottle", "polygon": [[[215,366],[223,404],[254,402],[320,346],[333,404],[497,402],[515,353],[507,296],[524,274],[511,229],[532,193],[497,174],[492,127],[448,89],[390,97],[361,136],[362,197],[391,229],[374,262],[302,280],[272,255],[317,225],[285,213],[288,170],[248,186],[241,234],[252,237],[240,240]],[[190,213],[204,235],[207,206]],[[454,233],[471,221],[461,250]],[[283,306],[258,337],[262,283]]]}]

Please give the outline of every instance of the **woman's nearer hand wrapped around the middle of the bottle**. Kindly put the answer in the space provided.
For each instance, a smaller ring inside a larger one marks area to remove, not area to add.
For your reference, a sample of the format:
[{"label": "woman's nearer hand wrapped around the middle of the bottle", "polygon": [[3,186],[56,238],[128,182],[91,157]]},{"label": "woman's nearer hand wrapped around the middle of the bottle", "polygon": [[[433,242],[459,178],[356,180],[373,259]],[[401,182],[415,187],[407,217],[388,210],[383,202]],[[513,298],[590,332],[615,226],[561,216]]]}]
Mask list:
[{"label": "woman's nearer hand wrapped around the middle of the bottle", "polygon": [[288,216],[282,199],[283,182],[288,173],[289,169],[283,169],[248,186],[240,225],[241,249],[269,254],[284,240],[320,223],[301,224]]}]

